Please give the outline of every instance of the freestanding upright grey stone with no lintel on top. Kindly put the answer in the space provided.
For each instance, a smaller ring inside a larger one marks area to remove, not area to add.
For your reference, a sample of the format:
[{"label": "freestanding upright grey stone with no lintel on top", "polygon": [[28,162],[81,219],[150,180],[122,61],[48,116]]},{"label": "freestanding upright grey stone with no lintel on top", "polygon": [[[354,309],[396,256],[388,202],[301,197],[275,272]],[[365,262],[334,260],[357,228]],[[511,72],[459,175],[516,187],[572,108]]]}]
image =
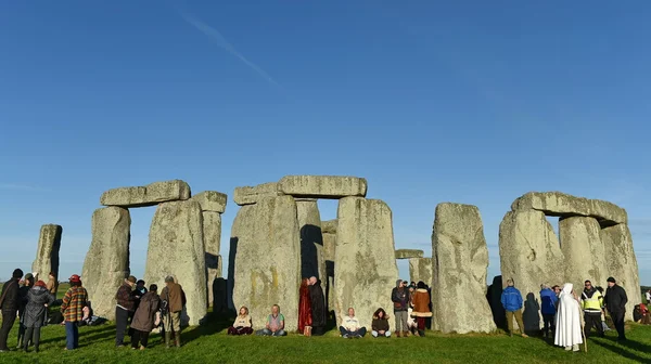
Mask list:
[{"label": "freestanding upright grey stone with no lintel on top", "polygon": [[438,204],[432,234],[436,266],[432,285],[434,329],[490,333],[496,329],[486,295],[488,247],[475,206]]}]

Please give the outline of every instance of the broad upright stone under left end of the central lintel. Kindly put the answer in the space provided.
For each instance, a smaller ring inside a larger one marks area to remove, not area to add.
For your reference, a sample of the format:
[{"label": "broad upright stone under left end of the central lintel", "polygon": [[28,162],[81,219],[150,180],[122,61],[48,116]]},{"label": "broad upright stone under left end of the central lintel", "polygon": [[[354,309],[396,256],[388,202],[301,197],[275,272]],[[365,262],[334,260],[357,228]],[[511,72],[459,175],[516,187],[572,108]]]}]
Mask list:
[{"label": "broad upright stone under left end of the central lintel", "polygon": [[295,330],[301,236],[294,198],[263,198],[255,205],[240,208],[231,232],[231,253],[233,250],[234,307],[248,307],[253,326],[259,328],[264,327],[271,306],[279,304],[285,317],[285,329]]}]

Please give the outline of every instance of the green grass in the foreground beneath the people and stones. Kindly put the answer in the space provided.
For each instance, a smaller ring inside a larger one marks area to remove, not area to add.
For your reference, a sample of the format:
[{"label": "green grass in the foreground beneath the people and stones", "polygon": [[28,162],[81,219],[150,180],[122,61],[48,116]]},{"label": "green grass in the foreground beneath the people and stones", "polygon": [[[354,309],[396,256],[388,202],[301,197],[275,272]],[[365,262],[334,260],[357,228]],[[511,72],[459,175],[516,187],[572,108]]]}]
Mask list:
[{"label": "green grass in the foreground beneath the people and stones", "polygon": [[[213,320],[208,325],[182,333],[183,347],[165,349],[161,336],[153,335],[145,351],[114,346],[115,326],[106,324],[79,329],[80,348],[64,351],[63,326],[44,327],[41,351],[12,351],[0,354],[1,363],[651,363],[651,326],[631,324],[625,344],[616,334],[588,341],[588,353],[565,352],[541,338],[506,335],[442,335],[425,338],[342,339],[335,332],[324,337],[290,335],[273,337],[229,337],[230,320]],[[9,344],[16,344],[16,325]],[[583,348],[582,348],[583,349]]]}]

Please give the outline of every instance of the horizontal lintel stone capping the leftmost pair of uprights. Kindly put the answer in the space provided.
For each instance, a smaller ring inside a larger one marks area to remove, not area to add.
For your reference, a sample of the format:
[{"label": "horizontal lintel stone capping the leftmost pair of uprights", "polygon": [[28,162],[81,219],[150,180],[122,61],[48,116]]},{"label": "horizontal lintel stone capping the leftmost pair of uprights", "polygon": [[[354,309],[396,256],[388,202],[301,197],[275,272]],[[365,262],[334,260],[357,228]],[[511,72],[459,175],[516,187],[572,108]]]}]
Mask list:
[{"label": "horizontal lintel stone capping the leftmost pair of uprights", "polygon": [[104,192],[100,204],[119,207],[145,207],[190,198],[190,186],[181,180],[154,182],[145,186],[119,187]]}]

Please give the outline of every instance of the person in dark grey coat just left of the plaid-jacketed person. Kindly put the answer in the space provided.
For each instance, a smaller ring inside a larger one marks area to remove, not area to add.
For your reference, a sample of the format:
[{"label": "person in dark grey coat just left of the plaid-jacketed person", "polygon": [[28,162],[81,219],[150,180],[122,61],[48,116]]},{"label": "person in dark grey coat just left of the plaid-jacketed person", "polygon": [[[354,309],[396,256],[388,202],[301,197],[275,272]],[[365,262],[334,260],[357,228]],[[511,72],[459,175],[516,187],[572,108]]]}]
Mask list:
[{"label": "person in dark grey coat just left of the plaid-jacketed person", "polygon": [[46,321],[48,307],[54,302],[54,296],[48,290],[43,281],[38,281],[27,292],[27,306],[25,307],[25,338],[23,350],[27,351],[29,341],[34,342],[34,351],[38,352],[40,343],[40,328]]}]

